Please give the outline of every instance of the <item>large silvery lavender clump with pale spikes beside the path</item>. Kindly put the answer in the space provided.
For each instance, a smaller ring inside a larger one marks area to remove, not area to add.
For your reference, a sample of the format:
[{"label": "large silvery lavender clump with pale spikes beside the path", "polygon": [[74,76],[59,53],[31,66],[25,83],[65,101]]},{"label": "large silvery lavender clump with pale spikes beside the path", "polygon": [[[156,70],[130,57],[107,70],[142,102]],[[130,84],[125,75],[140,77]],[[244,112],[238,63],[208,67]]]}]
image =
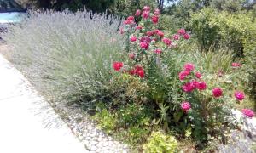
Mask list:
[{"label": "large silvery lavender clump with pale spikes beside the path", "polygon": [[10,60],[46,97],[86,107],[108,99],[112,63],[121,58],[119,19],[83,11],[31,12],[3,40]]}]

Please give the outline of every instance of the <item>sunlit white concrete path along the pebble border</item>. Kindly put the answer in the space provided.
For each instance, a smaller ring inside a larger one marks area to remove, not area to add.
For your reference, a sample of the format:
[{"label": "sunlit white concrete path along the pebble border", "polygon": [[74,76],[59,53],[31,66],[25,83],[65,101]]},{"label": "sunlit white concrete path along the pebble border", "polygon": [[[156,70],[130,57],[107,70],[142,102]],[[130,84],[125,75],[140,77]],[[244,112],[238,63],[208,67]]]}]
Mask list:
[{"label": "sunlit white concrete path along the pebble border", "polygon": [[88,152],[67,124],[1,54],[0,152]]}]

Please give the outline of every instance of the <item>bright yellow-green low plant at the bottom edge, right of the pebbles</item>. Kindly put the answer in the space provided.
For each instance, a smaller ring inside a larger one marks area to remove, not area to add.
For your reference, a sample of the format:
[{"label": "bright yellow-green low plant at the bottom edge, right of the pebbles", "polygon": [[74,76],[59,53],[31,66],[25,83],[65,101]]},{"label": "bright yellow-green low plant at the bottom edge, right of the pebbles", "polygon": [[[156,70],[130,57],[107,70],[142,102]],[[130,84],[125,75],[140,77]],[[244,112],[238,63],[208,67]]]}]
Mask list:
[{"label": "bright yellow-green low plant at the bottom edge, right of the pebbles", "polygon": [[153,132],[148,138],[148,143],[143,144],[146,153],[172,153],[177,151],[177,140],[171,135]]}]

